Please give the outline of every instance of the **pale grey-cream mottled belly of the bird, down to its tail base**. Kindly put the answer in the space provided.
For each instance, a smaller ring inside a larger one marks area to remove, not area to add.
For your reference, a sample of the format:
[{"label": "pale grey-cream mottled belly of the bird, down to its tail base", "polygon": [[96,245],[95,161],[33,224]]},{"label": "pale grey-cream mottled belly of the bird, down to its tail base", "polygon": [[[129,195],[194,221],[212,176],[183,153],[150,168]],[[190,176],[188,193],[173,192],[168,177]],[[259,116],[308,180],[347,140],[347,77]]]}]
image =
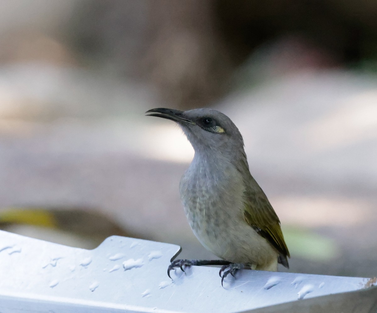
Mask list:
[{"label": "pale grey-cream mottled belly of the bird, down to its tail base", "polygon": [[[239,199],[239,200],[234,200]],[[247,224],[242,197],[223,199],[201,190],[184,201],[187,220],[201,244],[233,263],[250,263],[260,269],[277,264],[277,252]]]}]

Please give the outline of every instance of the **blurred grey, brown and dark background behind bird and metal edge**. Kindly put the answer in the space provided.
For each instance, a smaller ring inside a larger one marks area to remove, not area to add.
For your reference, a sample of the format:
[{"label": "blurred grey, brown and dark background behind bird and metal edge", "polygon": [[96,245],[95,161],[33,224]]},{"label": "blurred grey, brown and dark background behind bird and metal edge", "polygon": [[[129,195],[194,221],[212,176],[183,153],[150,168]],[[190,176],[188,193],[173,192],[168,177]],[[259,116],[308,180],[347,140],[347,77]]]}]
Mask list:
[{"label": "blurred grey, brown and dark background behind bird and metal edge", "polygon": [[244,136],[290,271],[376,276],[376,16],[366,0],[1,1],[0,227],[213,257],[179,199],[192,148],[144,116],[212,107]]}]

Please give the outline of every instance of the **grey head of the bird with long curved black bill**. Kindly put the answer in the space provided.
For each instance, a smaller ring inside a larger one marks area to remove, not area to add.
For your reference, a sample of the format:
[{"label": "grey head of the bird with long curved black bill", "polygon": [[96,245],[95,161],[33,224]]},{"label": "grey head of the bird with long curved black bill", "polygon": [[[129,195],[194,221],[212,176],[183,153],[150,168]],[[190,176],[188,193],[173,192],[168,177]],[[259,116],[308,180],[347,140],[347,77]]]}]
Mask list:
[{"label": "grey head of the bird with long curved black bill", "polygon": [[189,111],[156,108],[146,114],[178,123],[195,153],[220,153],[228,158],[237,157],[238,153],[244,155],[241,133],[231,119],[219,111],[207,108]]}]

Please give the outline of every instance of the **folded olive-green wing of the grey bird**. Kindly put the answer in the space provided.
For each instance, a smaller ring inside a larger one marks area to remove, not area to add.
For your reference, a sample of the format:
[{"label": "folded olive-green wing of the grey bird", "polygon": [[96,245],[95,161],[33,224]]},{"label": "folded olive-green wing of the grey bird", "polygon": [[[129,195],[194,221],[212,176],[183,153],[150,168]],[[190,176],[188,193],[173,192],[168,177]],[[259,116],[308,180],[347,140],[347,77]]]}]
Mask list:
[{"label": "folded olive-green wing of the grey bird", "polygon": [[279,263],[288,268],[287,256],[290,257],[290,254],[280,228],[279,217],[263,190],[256,182],[254,185],[254,182],[253,179],[251,184],[255,188],[250,187],[245,191],[245,220],[280,253]]}]

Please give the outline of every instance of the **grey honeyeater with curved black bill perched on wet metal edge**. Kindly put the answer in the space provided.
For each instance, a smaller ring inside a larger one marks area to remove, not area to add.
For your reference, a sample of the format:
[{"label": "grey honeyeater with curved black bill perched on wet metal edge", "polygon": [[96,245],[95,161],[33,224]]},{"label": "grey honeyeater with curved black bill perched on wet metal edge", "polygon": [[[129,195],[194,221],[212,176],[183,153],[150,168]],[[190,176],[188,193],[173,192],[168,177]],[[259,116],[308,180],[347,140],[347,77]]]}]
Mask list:
[{"label": "grey honeyeater with curved black bill perched on wet metal edge", "polygon": [[191,265],[222,265],[224,278],[241,269],[277,271],[289,268],[290,253],[280,220],[267,196],[251,176],[244,140],[225,114],[210,108],[146,112],[178,123],[194,148],[189,168],[179,183],[185,215],[199,242],[220,260],[175,260],[184,271]]}]

